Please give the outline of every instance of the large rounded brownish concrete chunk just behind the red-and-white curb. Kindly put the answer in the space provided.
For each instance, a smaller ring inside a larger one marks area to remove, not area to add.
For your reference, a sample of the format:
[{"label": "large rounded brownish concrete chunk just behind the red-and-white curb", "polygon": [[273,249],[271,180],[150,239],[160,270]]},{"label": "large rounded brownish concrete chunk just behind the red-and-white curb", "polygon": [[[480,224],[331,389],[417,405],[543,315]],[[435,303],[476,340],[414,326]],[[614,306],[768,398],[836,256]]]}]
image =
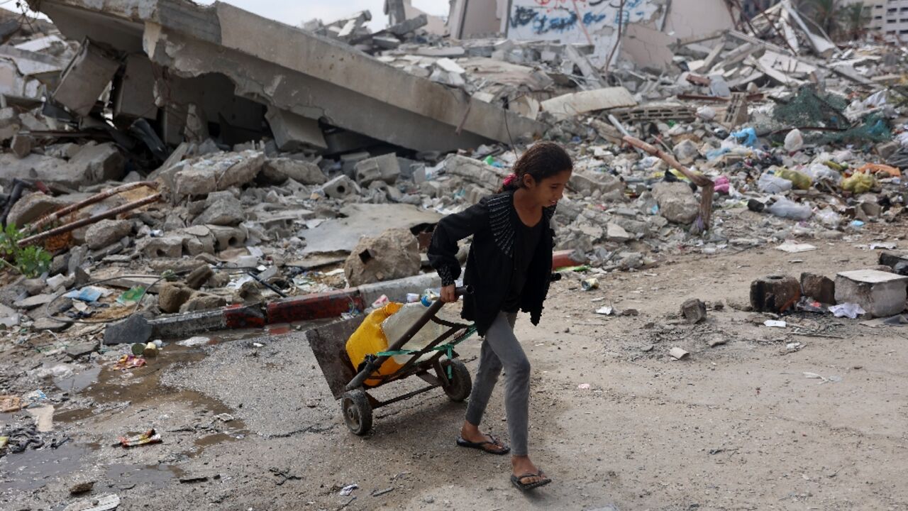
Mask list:
[{"label": "large rounded brownish concrete chunk just behind the red-and-white curb", "polygon": [[419,242],[410,229],[389,229],[363,237],[344,263],[350,286],[394,280],[419,273]]}]

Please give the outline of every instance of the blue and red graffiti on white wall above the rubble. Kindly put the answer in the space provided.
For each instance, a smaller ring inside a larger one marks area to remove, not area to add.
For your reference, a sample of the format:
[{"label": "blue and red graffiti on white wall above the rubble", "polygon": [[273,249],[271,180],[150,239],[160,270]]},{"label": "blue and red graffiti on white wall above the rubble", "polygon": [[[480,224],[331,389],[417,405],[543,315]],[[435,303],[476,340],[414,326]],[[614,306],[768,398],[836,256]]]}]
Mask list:
[{"label": "blue and red graffiti on white wall above the rubble", "polygon": [[588,44],[591,39],[598,50],[614,45],[618,25],[652,19],[658,3],[625,0],[622,15],[619,0],[513,0],[508,37],[558,40],[565,44]]}]

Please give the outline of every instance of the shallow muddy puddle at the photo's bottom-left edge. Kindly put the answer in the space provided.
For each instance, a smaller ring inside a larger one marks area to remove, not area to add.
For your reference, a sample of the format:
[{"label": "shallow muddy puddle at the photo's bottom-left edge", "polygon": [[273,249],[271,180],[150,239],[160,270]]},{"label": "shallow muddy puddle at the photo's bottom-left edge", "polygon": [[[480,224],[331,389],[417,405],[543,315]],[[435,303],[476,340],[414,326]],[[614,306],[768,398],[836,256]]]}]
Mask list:
[{"label": "shallow muddy puddle at the photo's bottom-left edge", "polygon": [[66,443],[56,449],[26,450],[0,458],[0,492],[35,490],[80,470],[87,451]]}]

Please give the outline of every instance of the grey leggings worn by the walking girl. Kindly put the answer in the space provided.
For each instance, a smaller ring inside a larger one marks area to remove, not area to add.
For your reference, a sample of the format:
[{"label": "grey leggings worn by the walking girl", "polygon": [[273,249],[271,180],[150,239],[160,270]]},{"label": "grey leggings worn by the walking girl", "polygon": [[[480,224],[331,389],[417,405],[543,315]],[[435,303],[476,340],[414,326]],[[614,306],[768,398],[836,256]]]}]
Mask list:
[{"label": "grey leggings worn by the walking girl", "polygon": [[513,456],[528,455],[529,360],[514,336],[517,314],[501,312],[489,331],[479,354],[479,369],[467,406],[467,422],[479,426],[489,405],[492,388],[501,368],[505,370],[505,412],[508,414],[508,436]]}]

